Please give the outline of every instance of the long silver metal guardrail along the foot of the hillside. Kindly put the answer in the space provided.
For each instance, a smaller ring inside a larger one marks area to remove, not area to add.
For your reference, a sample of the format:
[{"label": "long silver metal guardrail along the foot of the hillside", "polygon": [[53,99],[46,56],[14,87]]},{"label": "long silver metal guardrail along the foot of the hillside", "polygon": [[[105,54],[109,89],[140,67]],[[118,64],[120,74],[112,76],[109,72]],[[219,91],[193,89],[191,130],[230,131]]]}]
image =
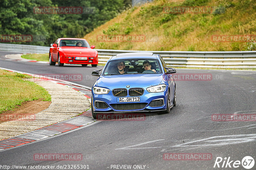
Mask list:
[{"label": "long silver metal guardrail along the foot of the hillside", "polygon": [[[0,50],[18,53],[49,53],[50,47],[0,43]],[[169,67],[256,68],[256,51],[134,51],[95,49],[99,63],[105,64],[118,53],[153,52],[160,54]]]}]

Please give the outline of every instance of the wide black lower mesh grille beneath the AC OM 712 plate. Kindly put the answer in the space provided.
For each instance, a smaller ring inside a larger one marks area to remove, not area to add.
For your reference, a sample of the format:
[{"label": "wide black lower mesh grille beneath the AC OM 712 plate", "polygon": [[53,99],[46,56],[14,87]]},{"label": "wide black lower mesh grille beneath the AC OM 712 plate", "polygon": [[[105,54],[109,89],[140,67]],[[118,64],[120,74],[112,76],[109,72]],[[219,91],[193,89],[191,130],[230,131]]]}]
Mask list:
[{"label": "wide black lower mesh grille beneath the AC OM 712 plate", "polygon": [[147,103],[117,103],[110,105],[115,110],[138,110],[143,109]]}]

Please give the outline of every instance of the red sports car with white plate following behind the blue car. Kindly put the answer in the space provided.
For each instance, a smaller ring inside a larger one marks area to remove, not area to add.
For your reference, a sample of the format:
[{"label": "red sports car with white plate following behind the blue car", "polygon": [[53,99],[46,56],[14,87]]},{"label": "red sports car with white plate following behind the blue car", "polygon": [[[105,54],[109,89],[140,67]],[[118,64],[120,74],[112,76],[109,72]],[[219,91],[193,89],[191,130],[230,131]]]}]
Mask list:
[{"label": "red sports car with white plate following behind the blue car", "polygon": [[66,64],[92,64],[97,67],[98,51],[93,50],[95,46],[89,45],[85,39],[59,38],[50,47],[49,64],[63,66]]}]

